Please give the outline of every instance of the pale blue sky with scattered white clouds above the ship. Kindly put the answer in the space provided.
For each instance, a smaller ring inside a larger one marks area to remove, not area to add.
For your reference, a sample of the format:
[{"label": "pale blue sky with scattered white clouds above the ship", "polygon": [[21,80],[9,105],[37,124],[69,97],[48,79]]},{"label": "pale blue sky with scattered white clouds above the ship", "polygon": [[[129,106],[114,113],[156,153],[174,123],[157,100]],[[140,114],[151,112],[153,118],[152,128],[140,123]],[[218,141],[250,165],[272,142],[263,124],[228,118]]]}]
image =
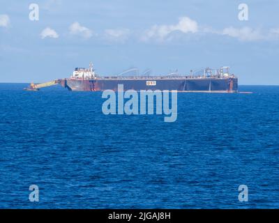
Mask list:
[{"label": "pale blue sky with scattered white clouds above the ship", "polygon": [[100,75],[230,66],[239,84],[279,84],[278,10],[276,0],[0,0],[0,82],[69,77],[92,61]]}]

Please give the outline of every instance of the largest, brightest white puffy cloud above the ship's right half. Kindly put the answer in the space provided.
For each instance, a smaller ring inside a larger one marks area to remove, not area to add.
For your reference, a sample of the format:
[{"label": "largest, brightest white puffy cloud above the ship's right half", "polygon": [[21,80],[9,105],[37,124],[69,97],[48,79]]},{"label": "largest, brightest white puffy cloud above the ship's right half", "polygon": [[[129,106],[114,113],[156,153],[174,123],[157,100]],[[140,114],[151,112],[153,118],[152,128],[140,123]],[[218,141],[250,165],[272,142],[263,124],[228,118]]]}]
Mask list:
[{"label": "largest, brightest white puffy cloud above the ship's right half", "polygon": [[179,22],[173,25],[155,25],[151,29],[144,33],[142,40],[149,40],[150,38],[156,38],[157,40],[164,40],[169,33],[173,31],[181,31],[182,33],[196,33],[198,31],[198,25],[195,20],[191,20],[189,17],[179,18]]}]

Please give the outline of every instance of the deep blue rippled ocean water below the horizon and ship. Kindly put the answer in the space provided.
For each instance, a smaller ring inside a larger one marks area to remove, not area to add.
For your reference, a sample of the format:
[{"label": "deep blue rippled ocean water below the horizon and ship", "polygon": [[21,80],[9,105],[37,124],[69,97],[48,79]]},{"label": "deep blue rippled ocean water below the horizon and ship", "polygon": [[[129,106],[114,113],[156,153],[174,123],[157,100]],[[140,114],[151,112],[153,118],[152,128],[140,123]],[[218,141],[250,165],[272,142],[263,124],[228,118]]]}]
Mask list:
[{"label": "deep blue rippled ocean water below the horizon and ship", "polygon": [[279,86],[179,93],[174,123],[105,116],[98,92],[25,86],[0,84],[0,208],[279,207]]}]

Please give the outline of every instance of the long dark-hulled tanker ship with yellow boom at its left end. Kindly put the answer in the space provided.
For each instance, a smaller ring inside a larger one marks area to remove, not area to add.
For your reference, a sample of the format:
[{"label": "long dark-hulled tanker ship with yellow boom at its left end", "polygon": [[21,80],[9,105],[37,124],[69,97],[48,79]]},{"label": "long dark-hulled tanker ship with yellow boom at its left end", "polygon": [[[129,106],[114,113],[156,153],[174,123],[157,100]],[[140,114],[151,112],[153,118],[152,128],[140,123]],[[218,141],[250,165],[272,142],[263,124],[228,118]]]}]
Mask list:
[{"label": "long dark-hulled tanker ship with yellow boom at its left end", "polygon": [[199,72],[190,71],[188,75],[179,75],[171,72],[167,75],[97,75],[93,64],[89,68],[75,68],[73,74],[64,79],[56,79],[43,84],[31,84],[27,91],[60,84],[69,91],[118,91],[119,85],[123,85],[123,91],[127,90],[151,90],[164,91],[175,90],[179,92],[204,92],[204,93],[237,93],[238,79],[229,73],[229,67],[212,69],[204,68]]}]

